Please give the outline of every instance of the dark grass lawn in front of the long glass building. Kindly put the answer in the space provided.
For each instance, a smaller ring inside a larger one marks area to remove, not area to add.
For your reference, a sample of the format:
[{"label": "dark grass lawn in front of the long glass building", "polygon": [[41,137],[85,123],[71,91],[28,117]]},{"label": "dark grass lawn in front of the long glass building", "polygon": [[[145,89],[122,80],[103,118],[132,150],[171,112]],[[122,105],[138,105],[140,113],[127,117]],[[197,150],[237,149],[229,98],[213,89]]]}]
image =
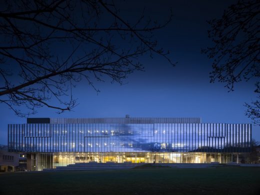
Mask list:
[{"label": "dark grass lawn in front of the long glass building", "polygon": [[260,194],[259,167],[0,174],[0,194]]}]

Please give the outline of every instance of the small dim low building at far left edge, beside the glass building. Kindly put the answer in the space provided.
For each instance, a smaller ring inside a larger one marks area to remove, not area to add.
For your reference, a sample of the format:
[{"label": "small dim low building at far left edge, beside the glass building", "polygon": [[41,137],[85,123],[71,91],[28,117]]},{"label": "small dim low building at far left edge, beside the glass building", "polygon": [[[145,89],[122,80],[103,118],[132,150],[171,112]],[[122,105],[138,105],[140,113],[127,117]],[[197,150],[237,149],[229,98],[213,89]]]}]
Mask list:
[{"label": "small dim low building at far left edge, beside the glass building", "polygon": [[8,152],[7,145],[0,145],[0,171],[13,172],[19,165],[19,153]]}]

